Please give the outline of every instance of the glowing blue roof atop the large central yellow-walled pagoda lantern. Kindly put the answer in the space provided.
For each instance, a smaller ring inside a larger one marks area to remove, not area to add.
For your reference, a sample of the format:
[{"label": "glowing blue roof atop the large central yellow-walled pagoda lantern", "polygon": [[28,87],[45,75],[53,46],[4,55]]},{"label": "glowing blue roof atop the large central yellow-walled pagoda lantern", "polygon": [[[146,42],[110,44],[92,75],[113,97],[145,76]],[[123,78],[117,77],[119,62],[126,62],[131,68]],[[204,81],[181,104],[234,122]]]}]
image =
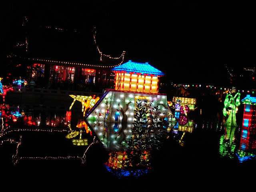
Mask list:
[{"label": "glowing blue roof atop the large central yellow-walled pagoda lantern", "polygon": [[113,72],[120,72],[123,71],[125,73],[138,73],[138,74],[147,74],[148,76],[153,75],[153,76],[163,76],[164,73],[162,73],[160,70],[152,67],[148,63],[137,63],[137,62],[132,62],[129,60],[128,62],[116,66],[112,68]]}]

